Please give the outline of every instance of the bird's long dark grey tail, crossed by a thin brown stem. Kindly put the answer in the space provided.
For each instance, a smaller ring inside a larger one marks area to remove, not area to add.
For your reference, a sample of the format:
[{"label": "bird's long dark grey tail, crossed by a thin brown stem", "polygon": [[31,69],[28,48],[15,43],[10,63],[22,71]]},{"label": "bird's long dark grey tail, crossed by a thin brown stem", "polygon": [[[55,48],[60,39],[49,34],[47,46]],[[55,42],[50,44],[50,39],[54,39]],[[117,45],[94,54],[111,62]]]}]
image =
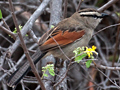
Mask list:
[{"label": "bird's long dark grey tail, crossed by a thin brown stem", "polygon": [[[46,53],[42,53],[40,49],[37,49],[32,56],[34,64],[36,64]],[[15,87],[20,80],[31,70],[29,61],[27,60],[20,68],[18,68],[8,79],[7,85]]]}]

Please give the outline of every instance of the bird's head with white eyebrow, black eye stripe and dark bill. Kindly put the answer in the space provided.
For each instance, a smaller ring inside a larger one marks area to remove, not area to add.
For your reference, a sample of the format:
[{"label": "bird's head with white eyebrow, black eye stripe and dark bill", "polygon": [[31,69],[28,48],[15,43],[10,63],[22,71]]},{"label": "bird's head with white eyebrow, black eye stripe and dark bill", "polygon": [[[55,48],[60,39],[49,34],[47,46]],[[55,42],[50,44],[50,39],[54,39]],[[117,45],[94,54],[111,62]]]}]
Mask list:
[{"label": "bird's head with white eyebrow, black eye stripe and dark bill", "polygon": [[93,29],[97,27],[100,21],[108,16],[106,13],[100,13],[95,9],[83,9],[72,15],[72,17],[86,26],[90,26]]}]

